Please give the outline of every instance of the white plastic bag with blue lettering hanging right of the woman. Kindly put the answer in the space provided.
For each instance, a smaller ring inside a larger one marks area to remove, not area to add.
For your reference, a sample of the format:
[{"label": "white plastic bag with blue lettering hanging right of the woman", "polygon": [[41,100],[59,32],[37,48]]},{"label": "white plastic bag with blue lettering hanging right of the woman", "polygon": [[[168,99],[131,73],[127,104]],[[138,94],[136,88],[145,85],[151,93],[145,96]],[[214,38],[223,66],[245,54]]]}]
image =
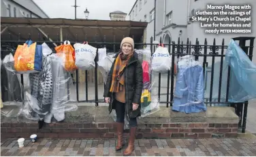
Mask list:
[{"label": "white plastic bag with blue lettering hanging right of the woman", "polygon": [[152,55],[152,70],[154,72],[165,73],[171,69],[172,56],[169,54],[167,47],[159,46]]}]

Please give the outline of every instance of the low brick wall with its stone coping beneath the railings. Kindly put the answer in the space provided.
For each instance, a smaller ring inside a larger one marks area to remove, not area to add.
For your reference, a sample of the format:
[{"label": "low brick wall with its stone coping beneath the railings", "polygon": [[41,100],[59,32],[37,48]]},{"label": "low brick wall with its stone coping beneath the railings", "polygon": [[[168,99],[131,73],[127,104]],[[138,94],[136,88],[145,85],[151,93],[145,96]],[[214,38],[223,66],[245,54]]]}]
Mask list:
[{"label": "low brick wall with its stone coping beneath the railings", "polygon": [[[43,129],[38,129],[37,121],[2,117],[1,138],[29,138],[33,133],[46,138],[116,137],[115,123],[107,107],[79,108],[79,111],[67,112],[64,122],[46,124]],[[209,107],[207,112],[184,114],[163,107],[155,114],[138,118],[138,123],[138,139],[236,137],[238,133],[238,116],[233,108]],[[125,137],[128,135],[129,130],[125,130]]]}]

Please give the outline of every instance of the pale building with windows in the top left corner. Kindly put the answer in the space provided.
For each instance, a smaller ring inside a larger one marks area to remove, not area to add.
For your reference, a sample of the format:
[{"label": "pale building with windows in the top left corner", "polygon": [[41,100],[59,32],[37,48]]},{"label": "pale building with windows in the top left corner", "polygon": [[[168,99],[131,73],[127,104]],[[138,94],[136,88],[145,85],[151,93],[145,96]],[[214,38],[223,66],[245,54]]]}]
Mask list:
[{"label": "pale building with windows in the top left corner", "polygon": [[49,18],[33,0],[1,0],[1,17]]}]

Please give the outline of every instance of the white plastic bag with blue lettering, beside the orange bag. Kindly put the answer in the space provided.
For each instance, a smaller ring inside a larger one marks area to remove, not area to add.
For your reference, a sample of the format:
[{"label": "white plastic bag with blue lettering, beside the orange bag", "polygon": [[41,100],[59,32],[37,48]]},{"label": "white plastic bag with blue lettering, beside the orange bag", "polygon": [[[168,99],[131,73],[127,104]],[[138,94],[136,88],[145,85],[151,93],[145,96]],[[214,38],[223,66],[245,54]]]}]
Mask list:
[{"label": "white plastic bag with blue lettering, beside the orange bag", "polygon": [[95,68],[94,59],[97,48],[92,47],[88,43],[75,43],[74,47],[76,50],[76,66],[81,70],[90,70]]}]

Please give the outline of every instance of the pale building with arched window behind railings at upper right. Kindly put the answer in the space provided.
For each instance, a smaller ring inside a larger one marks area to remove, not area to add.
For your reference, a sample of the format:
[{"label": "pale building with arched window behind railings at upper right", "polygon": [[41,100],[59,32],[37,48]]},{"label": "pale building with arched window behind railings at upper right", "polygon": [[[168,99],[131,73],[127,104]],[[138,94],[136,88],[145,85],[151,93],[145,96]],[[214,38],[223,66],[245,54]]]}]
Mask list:
[{"label": "pale building with arched window behind railings at upper right", "polygon": [[[227,33],[227,34],[206,34],[204,28],[199,26],[199,22],[192,22],[189,20],[197,9],[206,9],[207,4],[212,5],[251,5],[251,33]],[[205,38],[208,44],[212,44],[213,39],[217,41],[217,45],[221,44],[222,39],[225,39],[227,44],[233,37],[256,36],[256,13],[253,9],[256,8],[255,0],[157,0],[155,8],[155,0],[137,0],[131,8],[129,13],[130,20],[146,21],[148,27],[146,28],[146,42],[150,41],[150,37],[154,37],[154,20],[156,20],[155,35],[156,40],[160,37],[163,43],[168,42],[171,37],[172,41],[177,42],[178,37],[181,41],[187,42],[187,38],[192,43],[195,43],[196,38],[200,44],[204,44]],[[156,18],[154,13],[156,12]],[[210,42],[210,43],[209,43]]]}]

